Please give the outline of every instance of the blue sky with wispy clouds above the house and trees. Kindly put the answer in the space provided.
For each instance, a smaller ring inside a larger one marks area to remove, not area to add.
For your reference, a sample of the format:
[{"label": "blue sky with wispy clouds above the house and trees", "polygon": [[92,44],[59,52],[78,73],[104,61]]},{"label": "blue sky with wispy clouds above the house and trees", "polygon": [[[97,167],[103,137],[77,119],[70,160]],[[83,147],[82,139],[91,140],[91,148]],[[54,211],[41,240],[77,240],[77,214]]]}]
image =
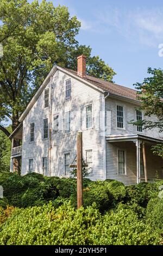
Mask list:
[{"label": "blue sky with wispy clouds above the house and trees", "polygon": [[117,72],[114,81],[134,88],[147,68],[163,68],[158,45],[163,43],[162,1],[58,0],[82,22],[77,39],[90,45]]}]

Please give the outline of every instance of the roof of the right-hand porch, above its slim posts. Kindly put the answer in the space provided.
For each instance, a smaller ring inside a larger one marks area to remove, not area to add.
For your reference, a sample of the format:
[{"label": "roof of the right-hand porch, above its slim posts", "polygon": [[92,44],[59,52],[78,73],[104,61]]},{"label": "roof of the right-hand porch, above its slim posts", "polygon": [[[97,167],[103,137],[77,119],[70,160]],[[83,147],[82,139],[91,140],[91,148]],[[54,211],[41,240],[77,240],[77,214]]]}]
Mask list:
[{"label": "roof of the right-hand porch, above its slim posts", "polygon": [[124,142],[124,141],[136,141],[140,139],[142,141],[154,142],[154,143],[163,143],[161,138],[153,138],[140,134],[123,134],[123,135],[110,135],[106,136],[106,141],[108,142]]}]

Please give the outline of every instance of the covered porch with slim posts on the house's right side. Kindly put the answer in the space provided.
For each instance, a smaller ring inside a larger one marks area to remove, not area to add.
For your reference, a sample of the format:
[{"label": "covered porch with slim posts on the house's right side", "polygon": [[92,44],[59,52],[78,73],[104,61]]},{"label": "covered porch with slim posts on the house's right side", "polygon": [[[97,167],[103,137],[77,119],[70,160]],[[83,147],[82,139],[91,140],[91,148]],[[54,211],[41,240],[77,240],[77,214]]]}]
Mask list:
[{"label": "covered porch with slim posts on the house's right side", "polygon": [[[114,171],[110,170],[111,175],[108,174],[108,178],[117,179],[126,184],[139,184],[144,181],[152,182],[155,179],[163,179],[162,158],[154,156],[151,150],[152,145],[163,143],[163,139],[138,134],[111,135],[106,137],[106,142],[108,142],[106,143],[106,172],[109,173],[111,165],[114,166]],[[116,170],[116,167],[118,169],[117,155],[115,157],[117,149],[125,151],[126,172],[123,175],[118,174],[118,170]],[[107,155],[107,151],[110,154]],[[114,160],[107,160],[109,155]]]}]

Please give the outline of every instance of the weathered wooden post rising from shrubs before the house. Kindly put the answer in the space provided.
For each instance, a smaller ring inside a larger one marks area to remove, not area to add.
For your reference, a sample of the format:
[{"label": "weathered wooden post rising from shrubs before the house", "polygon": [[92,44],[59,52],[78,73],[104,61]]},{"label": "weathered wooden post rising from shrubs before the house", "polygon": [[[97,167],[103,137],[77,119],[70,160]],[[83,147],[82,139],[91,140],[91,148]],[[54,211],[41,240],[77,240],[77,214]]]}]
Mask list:
[{"label": "weathered wooden post rising from shrubs before the house", "polygon": [[77,132],[77,205],[83,205],[83,147],[82,132]]}]

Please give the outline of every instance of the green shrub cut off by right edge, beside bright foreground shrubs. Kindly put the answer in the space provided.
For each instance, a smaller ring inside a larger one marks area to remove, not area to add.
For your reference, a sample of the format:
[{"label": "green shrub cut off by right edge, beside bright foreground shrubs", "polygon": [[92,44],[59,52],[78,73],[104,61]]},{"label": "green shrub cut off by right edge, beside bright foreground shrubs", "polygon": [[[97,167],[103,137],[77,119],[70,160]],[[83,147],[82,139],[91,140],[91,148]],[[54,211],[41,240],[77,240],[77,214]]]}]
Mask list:
[{"label": "green shrub cut off by right edge, beside bright foreground shrubs", "polygon": [[147,205],[147,223],[163,234],[163,199],[152,198]]}]

